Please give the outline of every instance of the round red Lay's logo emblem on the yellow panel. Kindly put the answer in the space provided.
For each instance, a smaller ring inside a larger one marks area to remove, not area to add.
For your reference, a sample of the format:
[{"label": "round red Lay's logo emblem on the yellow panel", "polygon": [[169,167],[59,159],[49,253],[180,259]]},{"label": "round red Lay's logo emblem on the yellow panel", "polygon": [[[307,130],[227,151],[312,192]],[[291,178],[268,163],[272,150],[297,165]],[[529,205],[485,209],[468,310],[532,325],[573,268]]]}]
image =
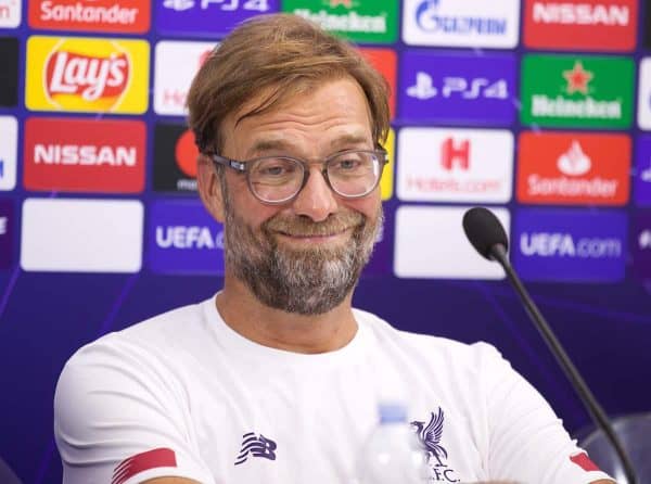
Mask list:
[{"label": "round red Lay's logo emblem on the yellow panel", "polygon": [[[107,41],[107,44],[113,42]],[[56,104],[101,104],[110,109],[126,92],[131,77],[127,52],[112,46],[106,54],[76,52],[74,46],[58,44],[46,62],[47,95]]]}]

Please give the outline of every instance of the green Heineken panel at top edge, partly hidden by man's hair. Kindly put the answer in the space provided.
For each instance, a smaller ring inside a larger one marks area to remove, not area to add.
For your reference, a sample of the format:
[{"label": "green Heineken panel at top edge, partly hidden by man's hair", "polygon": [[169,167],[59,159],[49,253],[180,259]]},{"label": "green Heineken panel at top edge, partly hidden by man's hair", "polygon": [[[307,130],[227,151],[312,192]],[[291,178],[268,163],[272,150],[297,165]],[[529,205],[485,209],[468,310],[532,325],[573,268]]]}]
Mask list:
[{"label": "green Heineken panel at top edge, partly hidden by man's hair", "polygon": [[282,10],[355,42],[391,43],[397,38],[397,0],[284,0]]}]

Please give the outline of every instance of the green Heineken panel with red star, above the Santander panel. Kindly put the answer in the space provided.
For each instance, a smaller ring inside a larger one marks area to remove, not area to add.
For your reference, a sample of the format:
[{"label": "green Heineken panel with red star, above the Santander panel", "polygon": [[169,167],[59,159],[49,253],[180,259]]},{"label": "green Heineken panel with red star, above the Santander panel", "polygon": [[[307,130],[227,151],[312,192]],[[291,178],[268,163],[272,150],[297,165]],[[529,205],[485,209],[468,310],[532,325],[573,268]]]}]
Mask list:
[{"label": "green Heineken panel with red star, above the Santander panel", "polygon": [[521,119],[525,125],[627,128],[633,114],[633,60],[524,55]]}]

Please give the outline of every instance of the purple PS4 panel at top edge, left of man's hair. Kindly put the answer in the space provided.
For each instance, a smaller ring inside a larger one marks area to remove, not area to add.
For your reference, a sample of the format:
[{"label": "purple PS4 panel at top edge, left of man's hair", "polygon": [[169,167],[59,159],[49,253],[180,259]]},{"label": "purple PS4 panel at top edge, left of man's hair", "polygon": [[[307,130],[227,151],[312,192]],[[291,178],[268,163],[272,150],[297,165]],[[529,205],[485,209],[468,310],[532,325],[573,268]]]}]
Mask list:
[{"label": "purple PS4 panel at top edge, left of man's hair", "polygon": [[156,29],[192,37],[225,37],[255,15],[279,11],[279,0],[159,0]]}]

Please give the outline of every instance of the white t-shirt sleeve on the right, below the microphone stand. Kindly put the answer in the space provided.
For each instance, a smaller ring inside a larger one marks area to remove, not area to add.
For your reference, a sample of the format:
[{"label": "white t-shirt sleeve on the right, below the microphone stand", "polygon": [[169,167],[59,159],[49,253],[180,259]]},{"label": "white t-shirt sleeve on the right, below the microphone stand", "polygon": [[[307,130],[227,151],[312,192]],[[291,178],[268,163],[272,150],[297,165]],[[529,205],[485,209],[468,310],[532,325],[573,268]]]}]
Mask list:
[{"label": "white t-shirt sleeve on the right, below the microphone stand", "polygon": [[489,434],[489,474],[523,483],[612,479],[577,447],[545,398],[495,347],[480,343]]}]

